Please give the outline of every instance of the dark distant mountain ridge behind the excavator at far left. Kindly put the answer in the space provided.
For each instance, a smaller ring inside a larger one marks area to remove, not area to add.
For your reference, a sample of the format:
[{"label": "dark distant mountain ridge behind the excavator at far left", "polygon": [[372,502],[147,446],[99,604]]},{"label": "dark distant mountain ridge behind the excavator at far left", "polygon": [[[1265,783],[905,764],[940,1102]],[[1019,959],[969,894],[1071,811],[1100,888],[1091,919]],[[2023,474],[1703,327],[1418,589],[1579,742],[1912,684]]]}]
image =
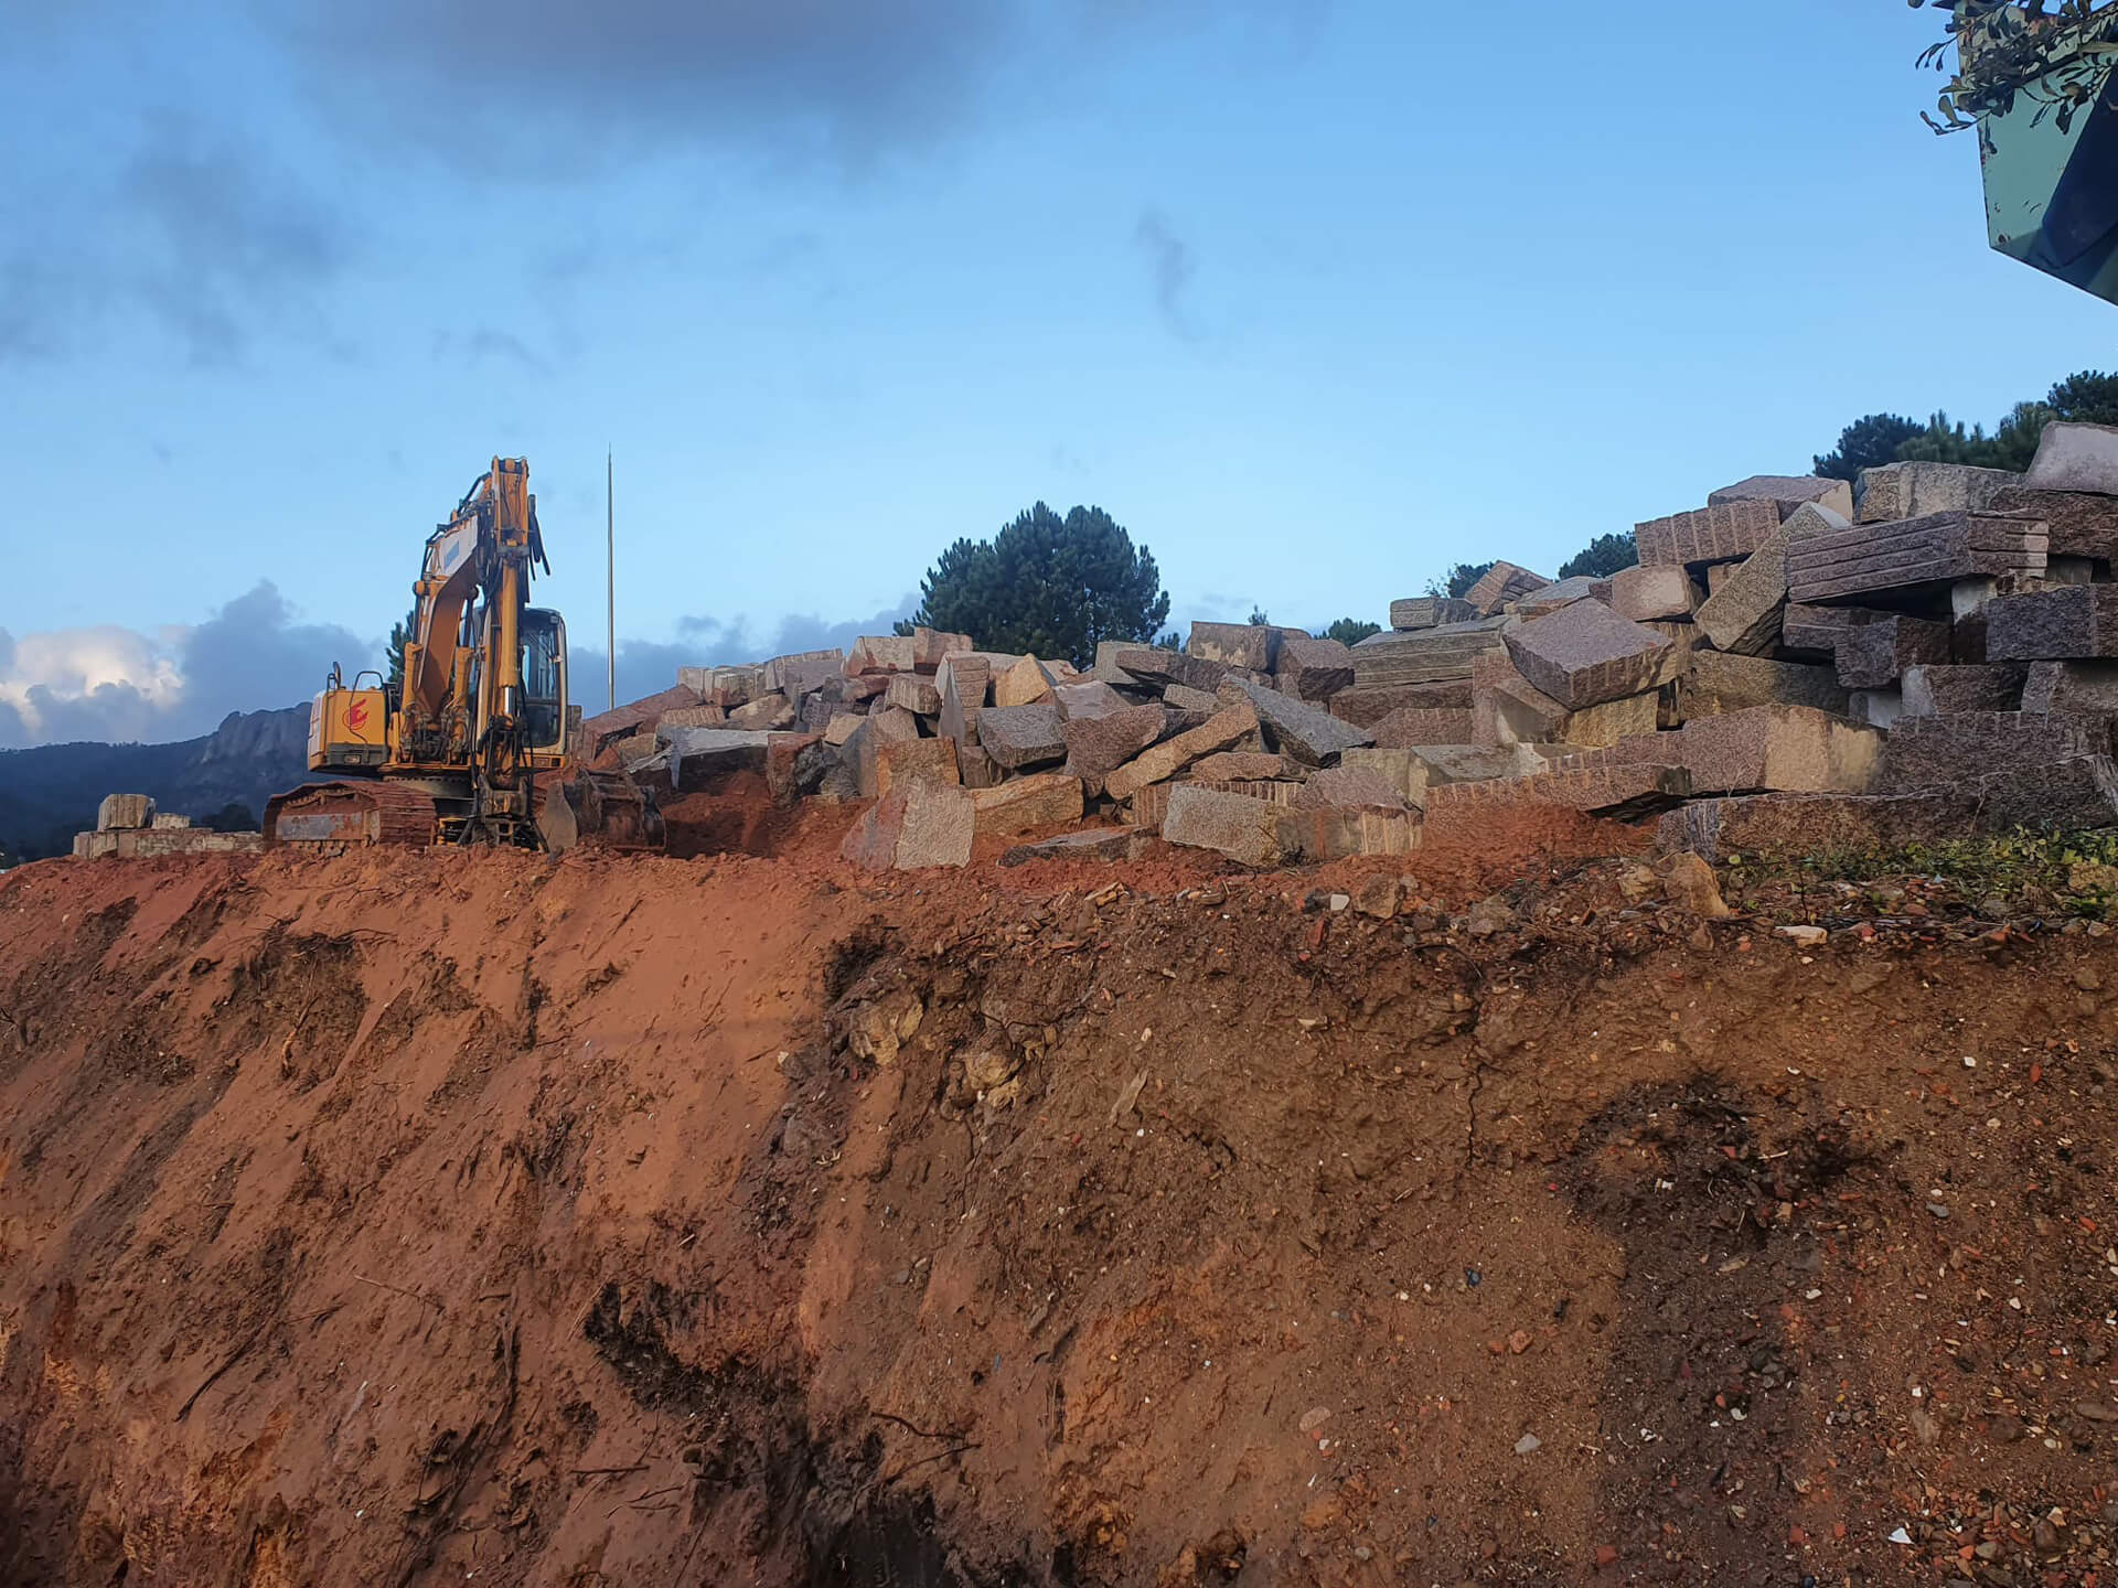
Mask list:
[{"label": "dark distant mountain ridge behind the excavator at far left", "polygon": [[265,800],[309,775],[309,707],[231,711],[201,739],[167,745],[36,745],[0,750],[0,853],[64,855],[95,826],[104,794],[150,794],[163,811],[205,817]]}]

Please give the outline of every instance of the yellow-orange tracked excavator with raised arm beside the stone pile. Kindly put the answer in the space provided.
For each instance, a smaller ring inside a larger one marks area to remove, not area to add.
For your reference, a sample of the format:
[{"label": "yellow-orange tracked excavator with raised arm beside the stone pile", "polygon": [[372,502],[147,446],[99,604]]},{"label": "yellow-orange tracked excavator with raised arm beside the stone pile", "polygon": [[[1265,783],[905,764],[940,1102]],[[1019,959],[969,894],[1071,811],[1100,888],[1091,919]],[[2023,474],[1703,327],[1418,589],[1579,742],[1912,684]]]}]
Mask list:
[{"label": "yellow-orange tracked excavator with raised arm beside the stone pile", "polygon": [[309,771],[335,777],[265,805],[269,849],[663,849],[648,792],[574,756],[566,622],[530,606],[538,565],[551,572],[530,464],[496,457],[428,536],[402,684],[330,669],[309,707]]}]

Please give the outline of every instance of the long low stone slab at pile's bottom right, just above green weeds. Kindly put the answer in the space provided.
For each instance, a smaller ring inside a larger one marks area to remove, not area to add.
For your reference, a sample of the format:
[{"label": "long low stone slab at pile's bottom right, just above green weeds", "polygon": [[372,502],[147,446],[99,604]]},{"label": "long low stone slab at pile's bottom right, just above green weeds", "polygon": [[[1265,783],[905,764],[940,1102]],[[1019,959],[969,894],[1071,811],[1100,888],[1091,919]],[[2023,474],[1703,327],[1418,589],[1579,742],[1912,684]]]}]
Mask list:
[{"label": "long low stone slab at pile's bottom right, just above green weeds", "polygon": [[1663,817],[1665,853],[1690,849],[1711,864],[1735,855],[1807,855],[1900,849],[2027,828],[2118,826],[2118,769],[2110,756],[2074,756],[2031,771],[1961,779],[1919,794],[1752,794],[1694,800]]}]

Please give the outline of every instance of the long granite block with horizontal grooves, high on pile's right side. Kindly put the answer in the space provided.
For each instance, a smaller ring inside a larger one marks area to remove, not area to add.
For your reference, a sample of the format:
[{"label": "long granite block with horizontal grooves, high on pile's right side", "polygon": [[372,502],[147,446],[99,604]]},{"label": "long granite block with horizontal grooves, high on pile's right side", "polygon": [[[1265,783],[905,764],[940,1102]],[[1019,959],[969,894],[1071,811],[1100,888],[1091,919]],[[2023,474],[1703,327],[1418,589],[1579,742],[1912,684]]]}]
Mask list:
[{"label": "long granite block with horizontal grooves, high on pile's right side", "polygon": [[[1807,536],[1788,548],[1788,599],[1860,603],[1864,595],[1949,591],[1957,580],[2044,572],[2044,525],[1993,512],[1932,512]],[[1870,606],[1874,606],[1870,601]]]}]

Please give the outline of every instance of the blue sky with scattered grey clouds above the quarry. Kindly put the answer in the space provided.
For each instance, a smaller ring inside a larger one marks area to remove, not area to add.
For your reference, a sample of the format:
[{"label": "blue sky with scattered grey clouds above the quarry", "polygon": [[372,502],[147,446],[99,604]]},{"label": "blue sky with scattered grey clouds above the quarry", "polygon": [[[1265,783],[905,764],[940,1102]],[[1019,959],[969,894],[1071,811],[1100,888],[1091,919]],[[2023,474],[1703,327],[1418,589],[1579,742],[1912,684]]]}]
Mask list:
[{"label": "blue sky with scattered grey clouds above the quarry", "polygon": [[[1633,25],[1627,19],[1639,17]],[[621,692],[839,642],[1034,500],[1173,616],[1993,421],[2112,366],[1991,254],[1902,0],[0,0],[0,745],[373,663],[523,453]],[[599,656],[580,658],[585,678]]]}]

